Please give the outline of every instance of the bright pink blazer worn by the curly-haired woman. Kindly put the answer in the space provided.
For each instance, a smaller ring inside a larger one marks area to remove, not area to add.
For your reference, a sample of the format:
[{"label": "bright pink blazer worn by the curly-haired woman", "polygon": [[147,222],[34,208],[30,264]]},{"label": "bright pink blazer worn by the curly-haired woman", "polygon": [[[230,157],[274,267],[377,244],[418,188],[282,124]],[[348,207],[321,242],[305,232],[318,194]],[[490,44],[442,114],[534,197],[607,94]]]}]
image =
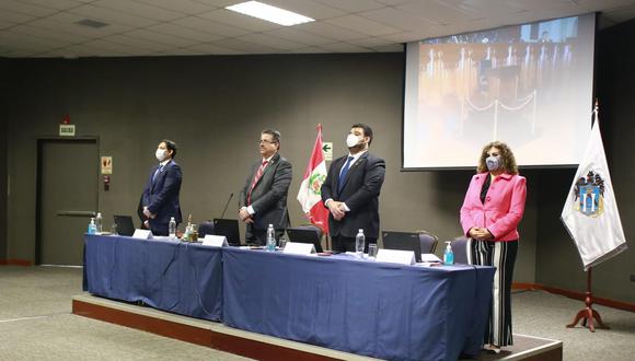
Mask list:
[{"label": "bright pink blazer worn by the curly-haired woman", "polygon": [[474,226],[486,228],[494,241],[518,240],[518,223],[524,212],[527,186],[520,175],[500,174],[487,190],[485,203],[481,202],[481,188],[489,173],[478,173],[472,177],[461,207],[463,233]]}]

